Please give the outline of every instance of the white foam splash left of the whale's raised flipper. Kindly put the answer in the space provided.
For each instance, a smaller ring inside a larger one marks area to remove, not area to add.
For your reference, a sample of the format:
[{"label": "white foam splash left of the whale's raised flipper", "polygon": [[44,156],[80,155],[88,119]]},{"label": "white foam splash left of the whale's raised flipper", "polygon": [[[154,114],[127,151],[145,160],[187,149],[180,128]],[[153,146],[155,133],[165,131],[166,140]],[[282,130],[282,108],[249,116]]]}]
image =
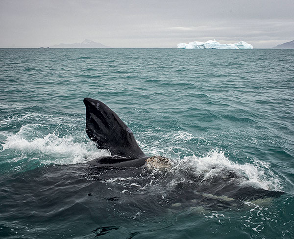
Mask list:
[{"label": "white foam splash left of the whale's raised flipper", "polygon": [[[49,133],[43,137],[33,137],[36,126],[26,125],[18,133],[9,135],[2,144],[2,151],[15,150],[23,155],[33,153],[34,158],[31,160],[39,159],[44,164],[83,163],[110,155],[107,150],[97,149],[90,140],[81,142],[81,137],[76,138],[70,134],[60,137],[57,133]],[[18,157],[14,158],[14,160],[18,159]]]}]

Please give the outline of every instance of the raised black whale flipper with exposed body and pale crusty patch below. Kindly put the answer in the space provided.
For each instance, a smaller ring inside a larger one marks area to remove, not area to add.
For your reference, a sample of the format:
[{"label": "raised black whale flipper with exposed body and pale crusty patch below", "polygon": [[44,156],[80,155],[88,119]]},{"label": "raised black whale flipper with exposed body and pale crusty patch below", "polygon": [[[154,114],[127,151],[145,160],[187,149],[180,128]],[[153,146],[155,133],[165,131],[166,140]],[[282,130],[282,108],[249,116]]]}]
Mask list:
[{"label": "raised black whale flipper with exposed body and pale crusty patch below", "polygon": [[156,167],[172,165],[162,156],[147,156],[138,145],[131,129],[103,102],[85,98],[86,133],[100,149],[112,156],[93,159],[89,164],[98,167],[141,167],[146,162]]}]

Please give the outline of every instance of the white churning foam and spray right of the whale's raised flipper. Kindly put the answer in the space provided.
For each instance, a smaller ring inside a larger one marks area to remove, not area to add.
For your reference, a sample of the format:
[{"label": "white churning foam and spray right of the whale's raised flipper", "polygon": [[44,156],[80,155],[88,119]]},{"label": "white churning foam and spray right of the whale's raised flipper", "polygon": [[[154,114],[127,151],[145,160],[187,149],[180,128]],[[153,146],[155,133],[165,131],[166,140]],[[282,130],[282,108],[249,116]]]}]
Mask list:
[{"label": "white churning foam and spray right of the whale's raised flipper", "polygon": [[[211,149],[208,153],[200,154],[196,150],[187,149],[187,144],[194,148],[209,147],[209,142],[202,137],[196,137],[185,131],[153,133],[147,131],[141,138],[153,138],[153,144],[147,145],[144,140],[139,141],[144,152],[152,155],[162,155],[172,159],[174,165],[168,172],[172,175],[172,184],[187,183],[191,179],[196,182],[210,183],[216,181],[233,180],[241,186],[254,186],[266,190],[282,190],[283,184],[276,173],[271,170],[270,163],[259,159],[243,159],[234,161],[225,156],[219,149]],[[162,149],[162,145],[167,145]],[[154,169],[154,173],[157,173]],[[173,186],[172,186],[173,187]]]}]

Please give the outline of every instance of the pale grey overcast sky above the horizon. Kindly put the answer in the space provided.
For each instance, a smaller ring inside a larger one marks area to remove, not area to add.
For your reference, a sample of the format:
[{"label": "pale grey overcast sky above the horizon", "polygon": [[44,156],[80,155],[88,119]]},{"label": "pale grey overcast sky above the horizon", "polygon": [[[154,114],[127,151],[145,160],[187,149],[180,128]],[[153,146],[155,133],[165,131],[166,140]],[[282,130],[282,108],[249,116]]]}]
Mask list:
[{"label": "pale grey overcast sky above the horizon", "polygon": [[91,39],[111,47],[294,40],[294,0],[0,0],[0,47]]}]

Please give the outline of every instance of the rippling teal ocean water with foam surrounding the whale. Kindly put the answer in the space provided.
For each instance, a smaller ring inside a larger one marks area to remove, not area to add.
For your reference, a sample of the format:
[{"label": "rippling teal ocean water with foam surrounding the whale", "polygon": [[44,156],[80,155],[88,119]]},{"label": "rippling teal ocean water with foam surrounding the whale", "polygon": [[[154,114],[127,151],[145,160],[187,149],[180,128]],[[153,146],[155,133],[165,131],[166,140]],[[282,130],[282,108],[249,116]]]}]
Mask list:
[{"label": "rippling teal ocean water with foam surrounding the whale", "polygon": [[[172,168],[91,168],[85,97]],[[0,238],[290,239],[293,214],[294,50],[0,49]]]}]

